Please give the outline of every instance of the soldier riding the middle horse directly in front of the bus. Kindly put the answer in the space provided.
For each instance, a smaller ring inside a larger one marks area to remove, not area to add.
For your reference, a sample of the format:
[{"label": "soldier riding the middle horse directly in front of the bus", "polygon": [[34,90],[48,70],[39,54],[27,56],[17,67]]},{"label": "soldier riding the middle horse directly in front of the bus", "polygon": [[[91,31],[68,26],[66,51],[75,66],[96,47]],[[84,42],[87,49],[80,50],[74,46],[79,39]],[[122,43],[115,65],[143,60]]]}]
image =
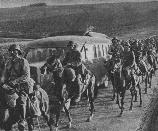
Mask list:
[{"label": "soldier riding the middle horse directly in front of the bus", "polygon": [[91,72],[82,63],[81,53],[76,49],[76,44],[73,41],[70,41],[67,47],[68,52],[66,53],[63,60],[63,66],[66,66],[68,68],[70,67],[75,70],[73,80],[75,81],[74,83],[77,83],[76,87],[78,89],[76,91],[76,98],[74,101],[78,102],[81,99],[80,85],[87,84],[87,74],[91,74]]}]

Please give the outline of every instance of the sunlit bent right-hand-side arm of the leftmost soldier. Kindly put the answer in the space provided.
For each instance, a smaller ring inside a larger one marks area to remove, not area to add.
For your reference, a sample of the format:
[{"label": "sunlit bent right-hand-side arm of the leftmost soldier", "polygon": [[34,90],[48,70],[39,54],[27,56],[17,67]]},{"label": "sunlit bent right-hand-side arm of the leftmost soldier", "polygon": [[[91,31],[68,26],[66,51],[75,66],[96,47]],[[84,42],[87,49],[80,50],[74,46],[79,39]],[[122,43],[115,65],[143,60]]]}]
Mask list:
[{"label": "sunlit bent right-hand-side arm of the leftmost soldier", "polygon": [[15,83],[28,81],[30,79],[30,66],[29,66],[28,61],[26,59],[23,59],[22,64],[23,64],[23,72],[22,72],[23,75],[15,79],[14,80]]}]

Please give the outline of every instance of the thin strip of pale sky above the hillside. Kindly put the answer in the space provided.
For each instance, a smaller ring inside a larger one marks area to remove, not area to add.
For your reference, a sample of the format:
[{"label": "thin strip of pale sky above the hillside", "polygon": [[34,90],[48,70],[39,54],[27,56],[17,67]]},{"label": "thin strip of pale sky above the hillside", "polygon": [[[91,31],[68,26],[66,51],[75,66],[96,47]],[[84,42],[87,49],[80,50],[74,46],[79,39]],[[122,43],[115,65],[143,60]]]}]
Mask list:
[{"label": "thin strip of pale sky above the hillside", "polygon": [[143,2],[143,1],[158,1],[158,0],[0,0],[0,8],[26,6],[33,3],[45,2],[48,5],[58,4],[87,4],[100,2]]}]

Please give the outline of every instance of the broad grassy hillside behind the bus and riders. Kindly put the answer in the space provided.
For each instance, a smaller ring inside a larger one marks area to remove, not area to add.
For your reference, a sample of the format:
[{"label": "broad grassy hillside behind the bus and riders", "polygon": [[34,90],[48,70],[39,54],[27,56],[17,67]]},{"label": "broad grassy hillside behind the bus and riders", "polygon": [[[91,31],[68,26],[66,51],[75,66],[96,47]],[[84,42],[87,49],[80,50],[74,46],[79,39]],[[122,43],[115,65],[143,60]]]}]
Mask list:
[{"label": "broad grassy hillside behind the bus and riders", "polygon": [[144,37],[158,32],[157,7],[158,2],[1,8],[0,36],[81,35],[93,25],[109,36]]}]

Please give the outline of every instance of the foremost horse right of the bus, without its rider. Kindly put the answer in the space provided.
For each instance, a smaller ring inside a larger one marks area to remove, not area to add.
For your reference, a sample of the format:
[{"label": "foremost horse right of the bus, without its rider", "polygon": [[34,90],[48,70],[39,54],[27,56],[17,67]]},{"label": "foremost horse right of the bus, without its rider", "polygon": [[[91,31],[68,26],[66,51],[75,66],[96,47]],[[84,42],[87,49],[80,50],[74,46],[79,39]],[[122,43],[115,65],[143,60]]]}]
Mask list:
[{"label": "foremost horse right of the bus, without its rider", "polygon": [[[137,69],[138,70],[138,69]],[[126,74],[126,75],[125,75]],[[112,83],[113,83],[113,96],[115,98],[115,93],[117,95],[116,104],[118,104],[121,109],[120,116],[123,114],[124,110],[124,98],[126,90],[130,90],[131,92],[131,105],[130,110],[133,107],[133,98],[135,97],[135,101],[137,101],[137,90],[139,90],[140,96],[140,106],[142,106],[142,98],[141,98],[141,88],[140,88],[140,76],[134,73],[134,83],[131,79],[131,74],[129,70],[122,69],[121,62],[115,63],[112,75]],[[125,76],[128,76],[125,78]],[[119,97],[121,97],[121,105],[119,102]]]}]

